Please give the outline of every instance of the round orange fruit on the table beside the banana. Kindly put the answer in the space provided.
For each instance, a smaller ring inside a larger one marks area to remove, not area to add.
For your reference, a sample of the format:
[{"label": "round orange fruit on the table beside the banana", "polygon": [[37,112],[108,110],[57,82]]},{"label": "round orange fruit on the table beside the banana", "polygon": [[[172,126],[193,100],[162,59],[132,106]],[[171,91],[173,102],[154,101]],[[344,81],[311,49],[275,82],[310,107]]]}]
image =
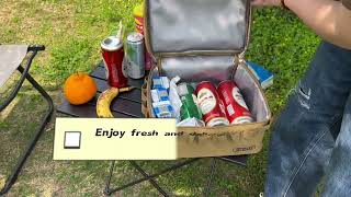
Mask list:
[{"label": "round orange fruit on the table beside the banana", "polygon": [[78,72],[67,78],[64,86],[65,97],[70,104],[88,103],[97,94],[95,81],[87,73]]}]

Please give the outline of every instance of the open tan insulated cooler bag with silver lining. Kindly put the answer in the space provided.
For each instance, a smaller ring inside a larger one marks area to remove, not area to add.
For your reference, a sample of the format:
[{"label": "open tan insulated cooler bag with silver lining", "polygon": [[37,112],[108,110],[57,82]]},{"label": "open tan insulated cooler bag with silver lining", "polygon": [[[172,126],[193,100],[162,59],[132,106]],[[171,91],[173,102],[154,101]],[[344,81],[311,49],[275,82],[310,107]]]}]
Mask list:
[{"label": "open tan insulated cooler bag with silver lining", "polygon": [[185,82],[234,80],[254,123],[178,127],[179,158],[252,154],[262,149],[271,113],[259,82],[244,60],[249,43],[250,0],[146,0],[145,39],[156,60],[144,90],[143,112],[155,117],[152,76]]}]

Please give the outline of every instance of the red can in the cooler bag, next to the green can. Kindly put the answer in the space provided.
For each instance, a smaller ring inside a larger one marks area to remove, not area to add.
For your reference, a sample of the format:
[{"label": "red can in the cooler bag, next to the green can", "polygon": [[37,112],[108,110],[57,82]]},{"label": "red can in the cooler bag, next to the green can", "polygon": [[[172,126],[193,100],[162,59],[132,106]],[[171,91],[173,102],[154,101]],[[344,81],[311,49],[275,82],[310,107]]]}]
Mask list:
[{"label": "red can in the cooler bag, next to the green can", "polygon": [[210,81],[196,85],[197,104],[207,127],[229,125],[216,88]]}]

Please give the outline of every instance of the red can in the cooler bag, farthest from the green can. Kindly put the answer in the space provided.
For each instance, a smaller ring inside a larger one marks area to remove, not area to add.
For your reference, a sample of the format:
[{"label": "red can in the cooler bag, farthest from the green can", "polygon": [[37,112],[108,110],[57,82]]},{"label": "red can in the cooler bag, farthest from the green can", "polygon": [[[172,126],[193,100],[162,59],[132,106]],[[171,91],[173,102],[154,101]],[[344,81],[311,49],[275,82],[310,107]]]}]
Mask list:
[{"label": "red can in the cooler bag, farthest from the green can", "polygon": [[253,121],[240,90],[234,81],[227,80],[220,82],[217,90],[220,100],[224,102],[226,115],[230,124]]}]

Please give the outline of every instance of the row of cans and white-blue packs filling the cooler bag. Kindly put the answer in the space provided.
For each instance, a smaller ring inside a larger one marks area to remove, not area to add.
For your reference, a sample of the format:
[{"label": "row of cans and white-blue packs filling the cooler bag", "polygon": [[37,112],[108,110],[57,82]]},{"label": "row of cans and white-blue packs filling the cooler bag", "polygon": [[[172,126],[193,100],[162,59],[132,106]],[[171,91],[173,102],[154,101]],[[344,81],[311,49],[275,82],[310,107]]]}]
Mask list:
[{"label": "row of cans and white-blue packs filling the cooler bag", "polygon": [[178,126],[216,127],[252,123],[249,107],[231,80],[181,82],[179,77],[152,78],[152,107],[159,118],[177,118]]}]

